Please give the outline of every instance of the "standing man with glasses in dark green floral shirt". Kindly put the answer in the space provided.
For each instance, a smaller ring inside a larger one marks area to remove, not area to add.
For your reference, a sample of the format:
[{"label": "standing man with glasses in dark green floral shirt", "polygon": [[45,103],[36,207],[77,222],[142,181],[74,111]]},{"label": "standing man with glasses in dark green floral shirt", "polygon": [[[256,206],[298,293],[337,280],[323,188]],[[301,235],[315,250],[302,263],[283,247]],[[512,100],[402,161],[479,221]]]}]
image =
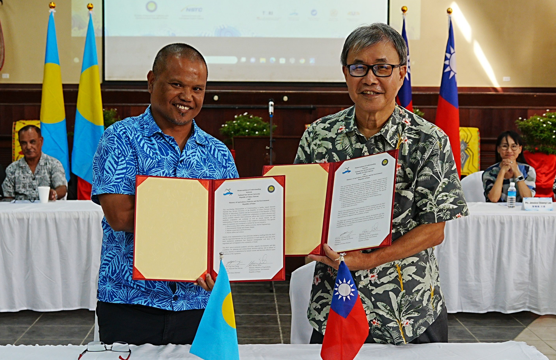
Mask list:
[{"label": "standing man with glasses in dark green floral shirt", "polygon": [[[448,341],[447,312],[433,248],[444,222],[468,215],[446,134],[396,106],[407,48],[398,32],[374,23],[355,29],[341,55],[355,106],[321,118],[303,134],[296,163],[335,162],[399,149],[392,245],[350,252],[345,263],[358,283],[369,320],[366,342]],[[318,261],[307,316],[321,343],[326,329],[338,254],[325,245]]]}]

